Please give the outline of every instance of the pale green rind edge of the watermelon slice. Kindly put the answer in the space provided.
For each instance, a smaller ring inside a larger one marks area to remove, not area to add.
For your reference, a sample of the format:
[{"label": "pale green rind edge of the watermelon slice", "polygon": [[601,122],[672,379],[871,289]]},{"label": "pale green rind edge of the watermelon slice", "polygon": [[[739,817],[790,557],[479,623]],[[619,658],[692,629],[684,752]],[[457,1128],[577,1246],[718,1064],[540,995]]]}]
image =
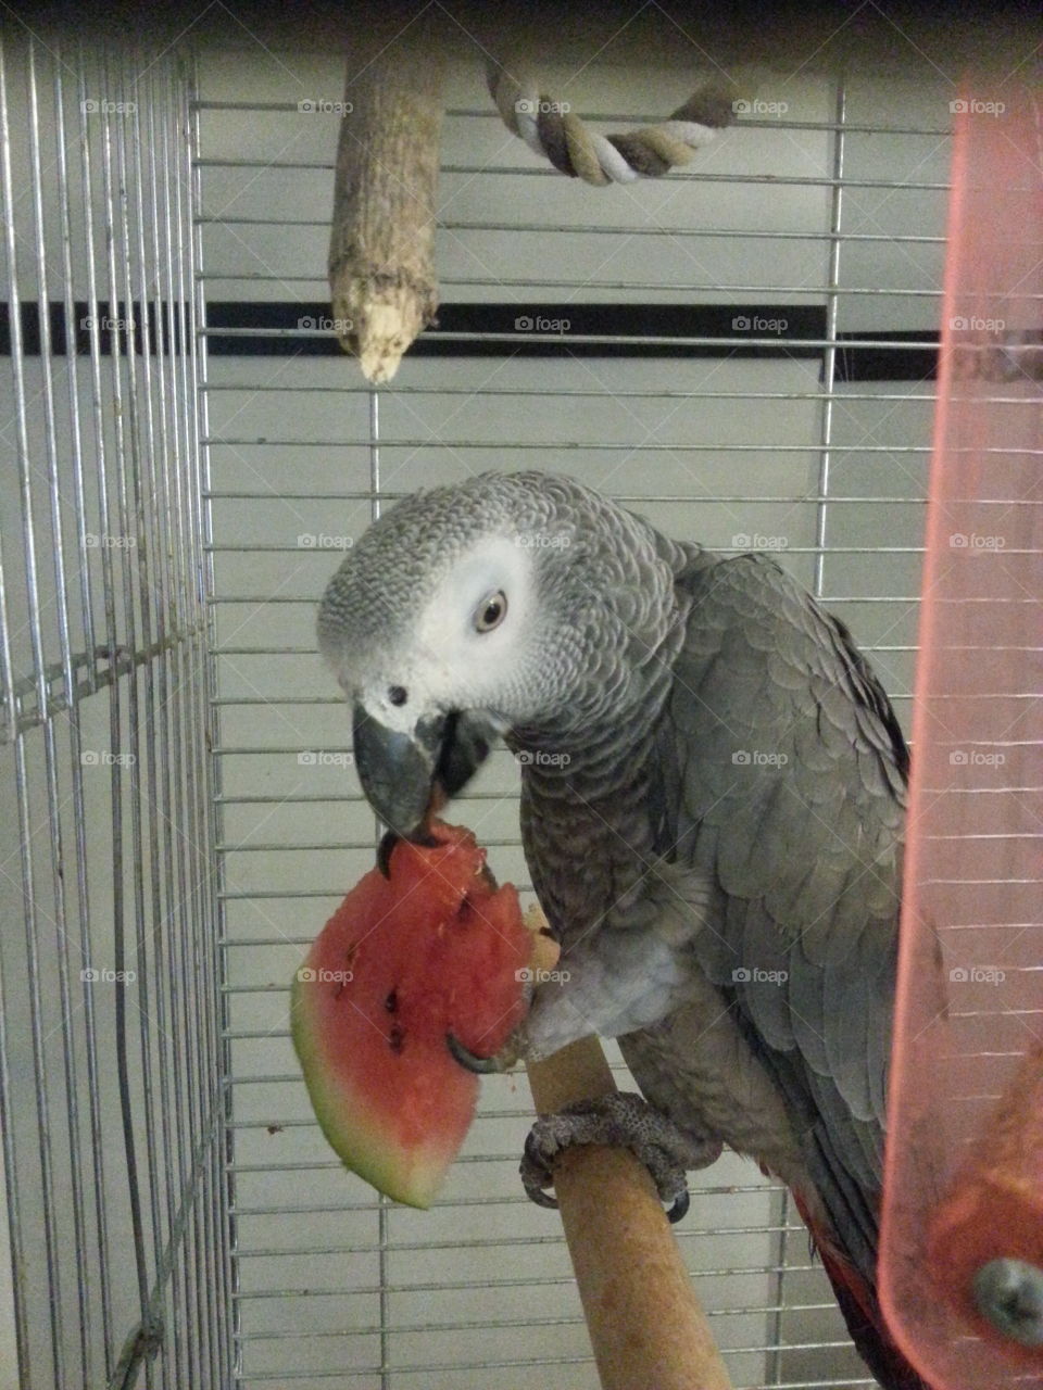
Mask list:
[{"label": "pale green rind edge of the watermelon slice", "polygon": [[[409,1150],[401,1147],[398,1136],[367,1098],[323,1065],[323,1040],[309,1026],[305,988],[306,984],[295,976],[289,995],[291,1033],[318,1127],[349,1172],[357,1173],[392,1201],[426,1211],[445,1180],[458,1143],[428,1141]],[[460,1072],[453,1084],[470,1084],[477,1099],[477,1077]]]}]

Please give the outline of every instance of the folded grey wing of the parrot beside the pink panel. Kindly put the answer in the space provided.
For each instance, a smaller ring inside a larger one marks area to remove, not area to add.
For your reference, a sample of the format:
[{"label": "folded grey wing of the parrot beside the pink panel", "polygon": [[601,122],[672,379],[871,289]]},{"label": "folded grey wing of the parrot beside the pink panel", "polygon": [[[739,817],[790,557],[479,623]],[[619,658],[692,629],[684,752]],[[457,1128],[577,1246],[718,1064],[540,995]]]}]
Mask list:
[{"label": "folded grey wing of the parrot beside the pink panel", "polygon": [[656,851],[713,885],[698,963],[872,1289],[908,752],[847,630],[769,556],[693,556],[677,592]]}]

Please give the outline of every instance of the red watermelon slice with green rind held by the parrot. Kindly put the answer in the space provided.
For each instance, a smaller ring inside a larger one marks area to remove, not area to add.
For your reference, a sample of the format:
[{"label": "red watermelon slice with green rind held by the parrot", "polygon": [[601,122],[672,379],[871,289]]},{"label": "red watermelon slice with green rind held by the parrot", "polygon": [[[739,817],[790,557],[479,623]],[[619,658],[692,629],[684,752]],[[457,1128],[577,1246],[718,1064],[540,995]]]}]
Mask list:
[{"label": "red watermelon slice with green rind held by the parrot", "polygon": [[327,922],[291,991],[293,1045],[316,1116],[343,1163],[380,1191],[430,1207],[474,1118],[478,1079],[453,1033],[491,1056],[524,1015],[517,972],[533,934],[485,851],[434,823],[401,841]]}]

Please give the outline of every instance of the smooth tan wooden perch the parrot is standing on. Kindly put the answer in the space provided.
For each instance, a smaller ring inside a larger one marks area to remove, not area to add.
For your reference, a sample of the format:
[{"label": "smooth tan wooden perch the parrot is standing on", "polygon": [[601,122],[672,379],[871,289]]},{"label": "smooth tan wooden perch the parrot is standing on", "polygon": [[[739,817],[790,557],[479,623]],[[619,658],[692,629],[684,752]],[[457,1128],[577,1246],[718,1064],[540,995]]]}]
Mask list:
[{"label": "smooth tan wooden perch the parrot is standing on", "polygon": [[[616,1090],[594,1037],[528,1063],[528,1081],[541,1115]],[[629,1150],[583,1144],[553,1177],[604,1390],[731,1390],[644,1165]]]}]

